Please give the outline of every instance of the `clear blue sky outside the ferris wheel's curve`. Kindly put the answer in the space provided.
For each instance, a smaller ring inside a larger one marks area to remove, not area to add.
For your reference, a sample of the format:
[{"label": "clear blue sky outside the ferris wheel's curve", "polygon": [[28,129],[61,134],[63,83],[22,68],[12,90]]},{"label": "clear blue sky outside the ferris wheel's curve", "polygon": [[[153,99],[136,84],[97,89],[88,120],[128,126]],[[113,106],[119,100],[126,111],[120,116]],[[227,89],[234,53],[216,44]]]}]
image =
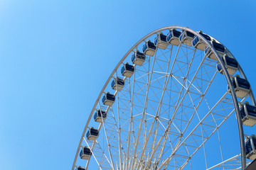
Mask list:
[{"label": "clear blue sky outside the ferris wheel's curve", "polygon": [[107,77],[157,28],[217,38],[256,91],[255,8],[252,0],[0,0],[0,169],[70,169]]}]

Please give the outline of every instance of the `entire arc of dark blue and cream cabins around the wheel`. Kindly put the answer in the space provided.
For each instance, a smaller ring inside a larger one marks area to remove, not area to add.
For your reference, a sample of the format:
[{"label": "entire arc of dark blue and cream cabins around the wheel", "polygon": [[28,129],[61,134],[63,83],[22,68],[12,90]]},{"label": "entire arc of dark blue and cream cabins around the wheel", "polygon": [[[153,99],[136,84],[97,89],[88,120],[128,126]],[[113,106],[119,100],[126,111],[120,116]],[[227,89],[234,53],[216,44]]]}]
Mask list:
[{"label": "entire arc of dark blue and cream cabins around the wheel", "polygon": [[[216,52],[218,52],[218,55],[220,56],[221,60],[225,64],[225,68],[228,71],[228,74],[230,76],[233,76],[235,72],[238,71],[238,62],[232,58],[229,57],[226,54],[225,47],[220,44],[219,42],[216,42],[216,40],[210,38],[209,35],[206,35],[199,31],[199,34],[203,36],[208,42],[210,42],[211,45],[213,45]],[[188,46],[195,47],[198,50],[204,51],[206,57],[217,60],[212,50],[210,50],[210,47],[206,45],[206,43],[199,38],[198,36],[194,35],[193,33],[189,31],[183,30],[182,32],[171,29],[167,35],[164,35],[163,33],[159,33],[156,35],[156,38],[154,39],[154,43],[150,40],[147,40],[145,44],[142,47],[142,52],[139,52],[139,50],[135,51],[132,55],[132,64],[124,63],[124,65],[121,68],[121,74],[124,77],[132,77],[134,74],[135,65],[142,66],[142,64],[146,60],[146,55],[154,56],[156,53],[156,47],[159,47],[163,50],[165,50],[169,44],[171,45],[180,45],[180,43],[183,43]],[[220,63],[217,64],[216,69],[220,74],[224,74],[223,68],[221,67]],[[246,79],[240,78],[238,75],[234,77],[232,80],[233,88],[235,89],[235,94],[238,96],[238,98],[244,98],[247,94],[250,93],[250,84]],[[115,91],[122,91],[124,88],[124,79],[119,77],[114,77],[111,87]],[[228,92],[230,93],[230,88],[227,86]],[[104,93],[102,97],[102,103],[105,106],[112,106],[115,101],[114,94],[110,94],[110,92]],[[256,107],[251,106],[249,103],[245,102],[243,103],[243,106],[240,108],[240,115],[242,117],[242,124],[252,127],[256,123]],[[107,112],[102,110],[96,110],[94,115],[94,120],[97,123],[103,123],[107,118]],[[97,137],[99,136],[99,130],[95,128],[89,128],[87,131],[86,137],[87,140],[97,140]],[[256,159],[256,137],[255,135],[252,135],[250,138],[247,138],[245,140],[245,148],[246,148],[246,156],[247,159]],[[81,159],[90,159],[92,155],[92,151],[88,147],[82,147],[80,151],[80,158]],[[78,170],[84,170],[81,166],[77,166]]]}]

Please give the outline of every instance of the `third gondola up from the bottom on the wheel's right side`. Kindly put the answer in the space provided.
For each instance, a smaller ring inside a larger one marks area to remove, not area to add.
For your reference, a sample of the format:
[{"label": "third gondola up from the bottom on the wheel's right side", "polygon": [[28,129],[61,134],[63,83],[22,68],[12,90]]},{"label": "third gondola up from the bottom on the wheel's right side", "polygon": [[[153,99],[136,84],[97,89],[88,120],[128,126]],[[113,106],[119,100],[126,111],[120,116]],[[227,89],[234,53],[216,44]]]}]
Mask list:
[{"label": "third gondola up from the bottom on the wheel's right side", "polygon": [[[244,98],[250,92],[250,84],[246,79],[240,78],[238,75],[231,81],[235,94],[238,98]],[[228,92],[230,92],[229,86],[227,86]]]}]

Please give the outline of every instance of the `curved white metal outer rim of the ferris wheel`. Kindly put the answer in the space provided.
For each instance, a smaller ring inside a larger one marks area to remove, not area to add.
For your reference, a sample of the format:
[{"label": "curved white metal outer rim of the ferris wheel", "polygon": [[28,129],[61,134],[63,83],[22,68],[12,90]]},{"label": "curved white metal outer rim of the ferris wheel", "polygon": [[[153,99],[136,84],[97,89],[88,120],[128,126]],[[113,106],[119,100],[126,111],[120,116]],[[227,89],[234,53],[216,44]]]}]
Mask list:
[{"label": "curved white metal outer rim of the ferris wheel", "polygon": [[[97,100],[95,101],[95,105],[92,107],[92,111],[91,111],[91,113],[90,113],[90,115],[89,115],[89,118],[88,118],[88,120],[87,120],[87,123],[86,123],[86,125],[85,125],[85,128],[84,128],[84,130],[83,130],[83,132],[82,132],[82,137],[81,137],[81,139],[80,139],[80,143],[79,143],[79,145],[78,145],[78,149],[77,149],[77,152],[76,152],[76,154],[75,154],[75,160],[74,160],[74,162],[73,162],[73,168],[72,168],[72,169],[75,168],[75,162],[76,162],[76,160],[77,160],[77,158],[78,158],[78,154],[79,154],[79,151],[80,151],[80,147],[81,147],[81,145],[82,145],[82,140],[83,140],[83,138],[85,137],[85,132],[86,132],[86,130],[87,130],[87,128],[88,128],[88,125],[89,125],[89,123],[90,123],[90,120],[92,120],[92,115],[93,115],[93,113],[94,113],[94,111],[95,111],[95,108],[97,107],[97,104],[98,104],[98,102],[100,101],[100,98],[101,98],[102,94],[104,93],[104,91],[105,91],[107,85],[110,83],[110,80],[112,79],[112,77],[114,76],[114,74],[117,72],[117,69],[121,66],[121,64],[124,62],[124,60],[127,59],[127,57],[131,54],[131,52],[134,51],[134,49],[136,49],[138,45],[140,45],[142,42],[144,42],[144,41],[146,40],[146,38],[149,38],[149,37],[151,37],[151,35],[155,35],[156,33],[160,33],[160,32],[163,31],[163,30],[171,30],[171,29],[174,29],[174,28],[175,28],[175,29],[185,30],[185,31],[190,31],[190,32],[193,33],[194,35],[196,35],[196,36],[198,36],[199,38],[201,38],[201,39],[203,40],[203,42],[205,42],[206,45],[207,45],[208,47],[210,47],[210,50],[212,50],[212,52],[214,53],[216,59],[217,59],[218,62],[220,63],[220,66],[222,67],[223,72],[224,72],[224,75],[225,75],[225,79],[227,80],[228,85],[230,86],[230,92],[231,92],[230,94],[231,94],[231,96],[232,96],[232,98],[233,98],[233,103],[234,103],[234,106],[235,106],[235,112],[236,112],[237,117],[238,117],[238,128],[239,128],[239,130],[242,129],[242,128],[241,128],[242,124],[239,125],[239,122],[242,123],[242,121],[239,120],[239,119],[240,119],[240,116],[238,116],[238,113],[240,113],[239,105],[238,105],[238,100],[237,100],[237,97],[236,97],[236,94],[235,94],[235,90],[233,89],[233,86],[231,85],[230,75],[228,74],[228,71],[227,71],[225,65],[223,64],[222,60],[220,59],[220,56],[218,55],[218,52],[216,52],[216,50],[215,50],[215,48],[213,47],[213,45],[211,45],[210,42],[208,42],[208,40],[206,40],[206,38],[204,38],[200,33],[196,32],[195,30],[192,30],[192,29],[190,29],[190,28],[183,27],[183,26],[166,26],[166,27],[164,27],[164,28],[159,28],[159,29],[157,29],[157,30],[152,31],[152,32],[149,33],[148,35],[145,35],[143,38],[141,38],[137,43],[135,43],[135,45],[133,45],[133,46],[130,48],[130,50],[124,55],[124,57],[122,57],[122,60],[119,61],[119,63],[117,64],[117,66],[114,68],[114,70],[113,70],[112,73],[110,74],[110,77],[108,77],[107,81],[105,82],[105,85],[103,86],[102,90],[100,91],[99,96],[97,97]],[[215,39],[215,38],[214,38],[214,39]],[[224,46],[224,47],[225,47],[225,46]],[[228,50],[228,48],[226,48],[226,49]],[[228,52],[230,52],[230,51],[228,50]],[[231,54],[231,52],[230,52],[230,54]],[[232,55],[232,54],[231,54],[231,55]],[[232,56],[233,56],[233,55],[232,55]],[[245,74],[244,74],[244,72],[242,71],[242,68],[241,68],[241,67],[240,67],[239,72],[240,72],[242,75],[244,75],[244,77],[245,77]],[[246,77],[245,77],[245,79],[246,79]],[[252,93],[252,91],[251,91],[251,93]],[[252,96],[253,96],[253,94],[252,94]],[[254,99],[254,97],[252,97],[252,98]],[[240,133],[240,138],[241,138],[241,136],[242,136],[242,140],[240,140],[240,145],[241,145],[241,154],[242,154],[242,157],[244,157],[243,155],[244,155],[245,153],[243,153],[243,152],[244,152],[244,149],[242,149],[242,148],[244,147],[244,140],[243,140],[243,135],[244,135],[244,134],[243,134],[242,131],[239,132],[239,133]],[[245,158],[245,157],[244,157],[244,158]],[[243,162],[243,160],[242,160],[242,162]]]}]

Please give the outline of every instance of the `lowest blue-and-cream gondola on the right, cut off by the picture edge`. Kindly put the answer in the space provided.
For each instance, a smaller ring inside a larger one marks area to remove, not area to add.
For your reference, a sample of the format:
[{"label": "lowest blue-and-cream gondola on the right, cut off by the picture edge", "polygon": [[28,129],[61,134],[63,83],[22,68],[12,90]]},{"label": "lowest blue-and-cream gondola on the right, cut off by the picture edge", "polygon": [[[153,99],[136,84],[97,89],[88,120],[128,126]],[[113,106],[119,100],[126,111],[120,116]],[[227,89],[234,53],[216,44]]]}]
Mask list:
[{"label": "lowest blue-and-cream gondola on the right, cut off by the picture edge", "polygon": [[256,159],[256,137],[255,135],[251,135],[250,137],[247,137],[245,140],[245,154],[247,159],[254,160]]}]

